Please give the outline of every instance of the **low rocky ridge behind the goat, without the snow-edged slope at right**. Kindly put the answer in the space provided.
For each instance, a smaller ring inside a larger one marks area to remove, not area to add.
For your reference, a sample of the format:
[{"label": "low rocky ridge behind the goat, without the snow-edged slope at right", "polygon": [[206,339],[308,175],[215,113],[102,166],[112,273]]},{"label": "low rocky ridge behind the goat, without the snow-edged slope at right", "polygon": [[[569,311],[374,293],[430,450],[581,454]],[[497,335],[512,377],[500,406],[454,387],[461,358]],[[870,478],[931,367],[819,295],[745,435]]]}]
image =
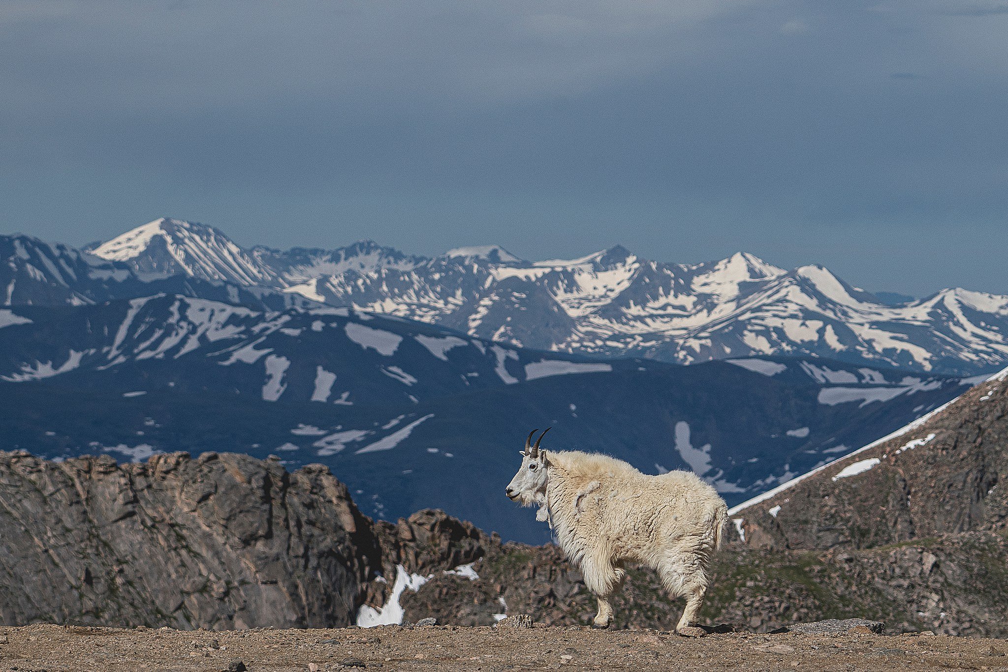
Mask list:
[{"label": "low rocky ridge behind the goat, without the snow-edged slope at right", "polygon": [[[1008,543],[991,531],[872,548],[736,543],[717,556],[702,618],[769,632],[861,617],[890,632],[1005,637],[1005,566]],[[595,609],[555,546],[502,543],[439,511],[372,522],[321,465],[0,453],[3,625],[341,627],[365,606],[458,626],[518,614],[586,625]],[[680,608],[631,567],[615,627],[666,630]]]}]

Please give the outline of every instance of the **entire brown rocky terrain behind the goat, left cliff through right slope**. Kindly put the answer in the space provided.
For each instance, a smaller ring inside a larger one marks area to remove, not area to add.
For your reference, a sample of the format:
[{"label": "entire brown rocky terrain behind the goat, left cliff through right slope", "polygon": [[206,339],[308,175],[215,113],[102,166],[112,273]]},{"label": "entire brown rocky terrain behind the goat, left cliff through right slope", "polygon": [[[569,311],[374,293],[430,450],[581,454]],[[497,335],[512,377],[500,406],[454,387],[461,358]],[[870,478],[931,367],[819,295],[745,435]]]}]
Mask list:
[{"label": "entire brown rocky terrain behind the goat, left cliff through right slope", "polygon": [[[767,633],[862,617],[890,634],[1008,637],[1005,388],[981,385],[735,514],[746,543],[733,532],[717,556],[703,620]],[[875,452],[868,471],[848,468]],[[595,611],[557,548],[502,543],[438,511],[373,522],[324,466],[0,452],[4,626],[339,628],[362,608],[456,627],[516,614],[582,626]],[[679,609],[630,568],[615,627],[665,630]]]}]

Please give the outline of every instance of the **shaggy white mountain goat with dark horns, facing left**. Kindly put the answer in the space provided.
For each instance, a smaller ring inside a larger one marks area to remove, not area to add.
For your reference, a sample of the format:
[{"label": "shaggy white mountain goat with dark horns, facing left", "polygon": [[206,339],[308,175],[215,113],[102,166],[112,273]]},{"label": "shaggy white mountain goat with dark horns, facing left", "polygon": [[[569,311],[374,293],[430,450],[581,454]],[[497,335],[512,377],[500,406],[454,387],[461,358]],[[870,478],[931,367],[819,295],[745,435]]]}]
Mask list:
[{"label": "shaggy white mountain goat with dark horns, facing left", "polygon": [[702,636],[694,627],[709,568],[728,523],[728,506],[710,485],[688,472],[641,474],[627,462],[580,450],[539,449],[533,430],[521,451],[521,467],[507,496],[524,506],[538,505],[536,519],[548,521],[560,548],[581,568],[599,599],[595,625],[608,628],[610,596],[625,576],[624,562],[658,572],[672,597],[686,606],[675,631]]}]

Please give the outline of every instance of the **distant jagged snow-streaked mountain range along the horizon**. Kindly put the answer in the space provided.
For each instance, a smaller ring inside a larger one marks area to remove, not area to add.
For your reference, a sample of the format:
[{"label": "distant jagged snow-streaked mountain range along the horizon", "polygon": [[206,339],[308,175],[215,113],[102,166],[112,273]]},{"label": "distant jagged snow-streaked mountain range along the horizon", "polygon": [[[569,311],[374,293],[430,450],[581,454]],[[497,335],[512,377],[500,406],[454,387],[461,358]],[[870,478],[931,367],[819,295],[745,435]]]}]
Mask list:
[{"label": "distant jagged snow-streaked mountain range along the horizon", "polygon": [[[6,287],[6,304],[38,302],[37,294],[66,294],[68,302],[138,296],[150,293],[138,282],[190,278],[233,296],[254,291],[257,300],[273,304],[281,295],[294,296],[598,357],[679,364],[818,357],[953,375],[1008,365],[1006,296],[956,288],[889,305],[822,266],[788,271],[745,253],[673,264],[622,247],[533,262],[498,246],[438,257],[409,256],[373,242],[336,250],[246,250],[212,227],[171,219],[95,245],[90,254],[27,237],[5,239],[0,254],[6,250],[8,263],[0,267],[0,287]],[[29,243],[74,257],[83,272],[75,271],[75,279],[58,262],[33,262],[39,253],[27,251]],[[78,287],[94,284],[96,275],[104,297]],[[198,288],[182,293],[219,298]]]}]

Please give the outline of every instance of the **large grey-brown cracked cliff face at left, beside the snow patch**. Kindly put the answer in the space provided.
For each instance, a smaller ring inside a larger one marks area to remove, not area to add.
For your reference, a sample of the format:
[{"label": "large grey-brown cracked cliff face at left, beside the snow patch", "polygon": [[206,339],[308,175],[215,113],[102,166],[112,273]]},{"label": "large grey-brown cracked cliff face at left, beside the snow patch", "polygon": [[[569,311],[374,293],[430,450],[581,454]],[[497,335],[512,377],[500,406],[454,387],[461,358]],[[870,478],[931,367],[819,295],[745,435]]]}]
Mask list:
[{"label": "large grey-brown cracked cliff face at left, beside the snow patch", "polygon": [[344,626],[380,566],[325,467],[240,454],[61,463],[0,453],[0,620]]}]

